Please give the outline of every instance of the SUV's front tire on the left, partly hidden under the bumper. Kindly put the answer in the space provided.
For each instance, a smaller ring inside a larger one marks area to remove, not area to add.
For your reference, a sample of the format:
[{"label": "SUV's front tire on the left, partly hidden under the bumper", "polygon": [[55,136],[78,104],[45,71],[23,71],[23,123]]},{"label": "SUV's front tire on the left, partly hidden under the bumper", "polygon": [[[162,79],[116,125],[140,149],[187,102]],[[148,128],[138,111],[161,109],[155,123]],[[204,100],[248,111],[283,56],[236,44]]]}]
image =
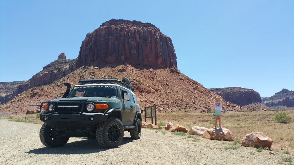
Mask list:
[{"label": "SUV's front tire on the left, partly hidden under the bumper", "polygon": [[70,138],[65,135],[56,138],[56,136],[54,136],[54,129],[46,123],[44,123],[40,129],[40,140],[46,147],[62,147],[69,139]]}]

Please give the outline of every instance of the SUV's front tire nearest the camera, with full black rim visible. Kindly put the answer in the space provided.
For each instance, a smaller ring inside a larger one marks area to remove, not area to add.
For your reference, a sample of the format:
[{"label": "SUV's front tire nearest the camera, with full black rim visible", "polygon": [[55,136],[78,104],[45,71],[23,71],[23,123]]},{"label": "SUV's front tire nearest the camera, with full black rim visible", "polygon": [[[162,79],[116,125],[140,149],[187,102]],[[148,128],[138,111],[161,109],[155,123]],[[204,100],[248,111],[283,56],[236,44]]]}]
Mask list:
[{"label": "SUV's front tire nearest the camera, with full black rim visible", "polygon": [[114,148],[121,144],[124,138],[124,127],[116,117],[108,117],[107,121],[98,124],[96,140],[100,147]]}]

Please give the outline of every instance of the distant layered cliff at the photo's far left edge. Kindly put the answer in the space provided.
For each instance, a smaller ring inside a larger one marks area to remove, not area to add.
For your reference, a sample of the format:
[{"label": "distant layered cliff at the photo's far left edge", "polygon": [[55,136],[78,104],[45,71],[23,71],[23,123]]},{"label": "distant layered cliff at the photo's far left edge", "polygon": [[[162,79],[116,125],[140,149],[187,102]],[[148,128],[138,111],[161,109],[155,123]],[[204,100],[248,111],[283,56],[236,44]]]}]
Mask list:
[{"label": "distant layered cliff at the photo's far left edge", "polygon": [[13,92],[20,84],[26,84],[28,81],[13,81],[13,82],[0,82],[0,104],[8,102],[13,97]]}]

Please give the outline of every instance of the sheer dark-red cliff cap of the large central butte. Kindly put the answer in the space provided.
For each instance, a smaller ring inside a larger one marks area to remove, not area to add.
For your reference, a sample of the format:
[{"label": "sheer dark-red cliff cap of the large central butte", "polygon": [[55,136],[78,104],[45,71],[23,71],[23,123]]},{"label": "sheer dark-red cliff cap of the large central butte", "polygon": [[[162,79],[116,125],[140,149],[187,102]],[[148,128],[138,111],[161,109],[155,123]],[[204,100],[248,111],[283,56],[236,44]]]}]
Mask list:
[{"label": "sheer dark-red cliff cap of the large central butte", "polygon": [[177,67],[171,38],[150,23],[111,19],[82,41],[77,67],[91,62]]}]

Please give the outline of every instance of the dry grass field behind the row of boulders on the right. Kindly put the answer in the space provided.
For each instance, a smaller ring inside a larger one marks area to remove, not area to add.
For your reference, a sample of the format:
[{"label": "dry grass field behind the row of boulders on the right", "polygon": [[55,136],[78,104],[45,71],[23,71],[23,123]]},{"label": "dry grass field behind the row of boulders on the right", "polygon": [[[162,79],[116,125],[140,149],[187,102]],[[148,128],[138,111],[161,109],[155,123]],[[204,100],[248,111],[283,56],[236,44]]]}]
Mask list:
[{"label": "dry grass field behind the row of boulders on the right", "polygon": [[[284,112],[294,118],[294,111]],[[272,150],[281,151],[281,149],[287,149],[293,153],[294,122],[287,124],[277,123],[274,118],[278,113],[280,111],[222,113],[221,126],[230,129],[234,138],[239,141],[248,133],[264,132],[273,140]],[[142,120],[144,121],[144,119]],[[189,130],[193,126],[213,128],[215,117],[213,113],[157,113],[157,123],[160,121],[163,123],[171,121],[174,125],[181,124]],[[151,118],[147,118],[147,123],[150,122]],[[287,127],[292,127],[292,129]]]}]

